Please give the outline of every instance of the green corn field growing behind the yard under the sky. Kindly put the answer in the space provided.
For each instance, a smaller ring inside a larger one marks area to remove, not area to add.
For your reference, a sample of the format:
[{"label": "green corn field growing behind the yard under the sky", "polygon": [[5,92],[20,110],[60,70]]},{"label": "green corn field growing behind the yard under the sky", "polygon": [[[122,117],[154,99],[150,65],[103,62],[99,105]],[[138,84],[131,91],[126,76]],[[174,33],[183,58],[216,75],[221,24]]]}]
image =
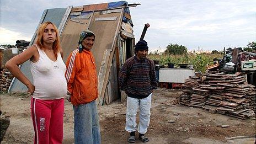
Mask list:
[{"label": "green corn field growing behind the yard under the sky", "polygon": [[174,66],[178,67],[178,64],[193,65],[195,71],[205,72],[208,65],[213,65],[214,58],[222,59],[222,54],[186,54],[186,55],[148,55],[152,60],[159,60],[160,65],[167,65],[168,63],[174,63]]}]

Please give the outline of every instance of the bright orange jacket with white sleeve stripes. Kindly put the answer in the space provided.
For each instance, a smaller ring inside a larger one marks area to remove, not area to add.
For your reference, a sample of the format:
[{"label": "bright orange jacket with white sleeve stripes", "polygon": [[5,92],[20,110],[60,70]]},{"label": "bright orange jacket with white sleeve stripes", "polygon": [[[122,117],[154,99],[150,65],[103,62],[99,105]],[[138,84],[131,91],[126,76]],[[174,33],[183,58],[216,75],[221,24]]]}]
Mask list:
[{"label": "bright orange jacket with white sleeve stripes", "polygon": [[98,97],[98,78],[92,52],[78,49],[71,52],[66,62],[67,90],[73,105],[90,103]]}]

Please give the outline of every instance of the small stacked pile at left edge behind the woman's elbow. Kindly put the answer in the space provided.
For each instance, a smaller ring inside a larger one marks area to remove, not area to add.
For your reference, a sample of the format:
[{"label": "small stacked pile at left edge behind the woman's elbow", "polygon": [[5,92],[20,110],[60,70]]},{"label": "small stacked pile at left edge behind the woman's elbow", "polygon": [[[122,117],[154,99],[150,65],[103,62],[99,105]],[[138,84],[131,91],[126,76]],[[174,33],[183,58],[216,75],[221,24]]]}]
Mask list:
[{"label": "small stacked pile at left edge behind the woman's elbow", "polygon": [[13,75],[6,69],[1,68],[1,81],[0,81],[0,89],[1,91],[6,91],[10,87],[10,83],[12,82]]}]

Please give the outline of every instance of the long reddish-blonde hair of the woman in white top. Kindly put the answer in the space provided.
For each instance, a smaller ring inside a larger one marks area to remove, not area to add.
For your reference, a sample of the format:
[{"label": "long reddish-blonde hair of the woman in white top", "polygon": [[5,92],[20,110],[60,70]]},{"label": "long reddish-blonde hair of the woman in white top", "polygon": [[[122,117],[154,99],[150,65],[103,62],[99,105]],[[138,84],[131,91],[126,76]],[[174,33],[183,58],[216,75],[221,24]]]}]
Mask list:
[{"label": "long reddish-blonde hair of the woman in white top", "polygon": [[54,30],[56,32],[56,40],[54,41],[54,44],[52,45],[52,49],[54,50],[54,55],[57,57],[57,51],[60,51],[60,37],[58,36],[58,29],[54,23],[44,22],[39,26],[35,44],[37,44],[40,47],[40,49],[41,49],[41,47],[44,47],[44,42],[43,42],[44,40],[42,39],[42,34],[44,34],[44,30],[48,24],[52,24],[54,26]]}]

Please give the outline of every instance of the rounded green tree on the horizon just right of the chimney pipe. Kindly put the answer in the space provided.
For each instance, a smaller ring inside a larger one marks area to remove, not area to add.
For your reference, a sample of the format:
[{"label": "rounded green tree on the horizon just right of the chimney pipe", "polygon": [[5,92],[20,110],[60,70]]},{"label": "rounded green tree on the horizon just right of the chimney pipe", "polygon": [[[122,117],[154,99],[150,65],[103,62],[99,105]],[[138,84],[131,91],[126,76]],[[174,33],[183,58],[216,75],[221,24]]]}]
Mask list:
[{"label": "rounded green tree on the horizon just right of the chimney pipe", "polygon": [[166,51],[164,51],[164,53],[166,54],[183,55],[186,54],[186,52],[188,52],[188,49],[186,49],[185,46],[178,44],[169,44],[166,48]]}]

